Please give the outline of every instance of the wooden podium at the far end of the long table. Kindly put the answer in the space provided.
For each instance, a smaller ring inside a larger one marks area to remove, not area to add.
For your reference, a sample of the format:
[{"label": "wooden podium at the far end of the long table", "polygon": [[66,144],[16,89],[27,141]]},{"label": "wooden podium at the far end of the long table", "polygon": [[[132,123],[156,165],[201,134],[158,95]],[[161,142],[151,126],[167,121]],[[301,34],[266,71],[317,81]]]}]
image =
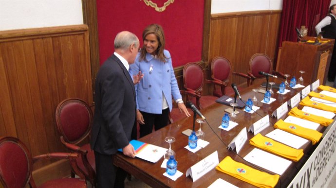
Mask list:
[{"label": "wooden podium at the far end of the long table", "polygon": [[[315,41],[316,37],[306,36],[306,40]],[[323,42],[327,41],[327,42]],[[303,80],[305,85],[311,84],[317,79],[325,85],[328,75],[331,55],[335,40],[324,38],[321,44],[314,45],[306,42],[283,41],[279,49],[277,71],[289,74],[290,78],[300,77],[299,70],[304,70]],[[290,81],[288,78],[288,82]]]}]

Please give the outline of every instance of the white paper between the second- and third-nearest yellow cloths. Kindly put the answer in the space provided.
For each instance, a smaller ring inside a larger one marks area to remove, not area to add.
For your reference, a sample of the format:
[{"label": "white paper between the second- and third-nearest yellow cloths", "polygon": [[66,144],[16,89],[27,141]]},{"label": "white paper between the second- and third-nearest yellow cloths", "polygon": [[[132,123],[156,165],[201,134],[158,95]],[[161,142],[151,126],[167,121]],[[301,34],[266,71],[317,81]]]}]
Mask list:
[{"label": "white paper between the second- and third-nearest yellow cloths", "polygon": [[287,146],[290,146],[295,149],[301,148],[303,144],[307,143],[308,140],[296,135],[293,135],[291,133],[288,133],[286,131],[282,131],[280,129],[275,129],[272,132],[265,135],[266,137],[272,138],[274,140],[277,140],[283,144],[286,144]]}]

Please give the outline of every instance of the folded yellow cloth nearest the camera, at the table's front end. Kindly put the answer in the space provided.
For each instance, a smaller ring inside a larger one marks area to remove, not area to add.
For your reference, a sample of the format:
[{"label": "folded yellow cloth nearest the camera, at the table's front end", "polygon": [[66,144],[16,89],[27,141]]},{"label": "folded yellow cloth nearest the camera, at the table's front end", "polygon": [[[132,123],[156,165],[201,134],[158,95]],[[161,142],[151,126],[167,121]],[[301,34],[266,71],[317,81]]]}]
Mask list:
[{"label": "folded yellow cloth nearest the camera, at the table's front end", "polygon": [[234,161],[226,156],[216,167],[217,171],[224,172],[235,178],[243,180],[258,188],[274,188],[280,178],[280,175],[271,175],[269,173],[253,169],[243,163]]}]

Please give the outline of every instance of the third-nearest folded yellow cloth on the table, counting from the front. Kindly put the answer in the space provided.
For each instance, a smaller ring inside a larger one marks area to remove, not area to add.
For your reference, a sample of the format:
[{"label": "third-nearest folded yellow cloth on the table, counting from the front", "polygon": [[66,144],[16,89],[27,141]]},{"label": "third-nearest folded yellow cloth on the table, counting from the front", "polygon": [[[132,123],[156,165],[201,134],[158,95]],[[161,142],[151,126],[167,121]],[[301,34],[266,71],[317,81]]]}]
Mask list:
[{"label": "third-nearest folded yellow cloth on the table, counting from the front", "polygon": [[274,128],[278,128],[288,133],[292,133],[293,135],[309,139],[313,142],[313,145],[316,144],[322,137],[322,133],[318,132],[317,130],[307,129],[294,123],[284,122],[283,120],[276,122],[274,124]]}]

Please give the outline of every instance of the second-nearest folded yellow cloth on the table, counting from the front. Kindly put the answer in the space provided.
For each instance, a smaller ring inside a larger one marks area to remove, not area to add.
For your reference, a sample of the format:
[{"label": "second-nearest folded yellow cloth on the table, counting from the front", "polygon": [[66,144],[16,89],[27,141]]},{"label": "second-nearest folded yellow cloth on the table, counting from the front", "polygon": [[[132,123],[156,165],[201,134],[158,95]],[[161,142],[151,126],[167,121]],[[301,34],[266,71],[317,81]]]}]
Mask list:
[{"label": "second-nearest folded yellow cloth on the table, counting from the front", "polygon": [[260,133],[250,139],[250,144],[273,154],[278,154],[288,159],[292,159],[293,161],[299,161],[303,156],[302,149],[298,150],[289,147],[271,138],[264,137]]}]

